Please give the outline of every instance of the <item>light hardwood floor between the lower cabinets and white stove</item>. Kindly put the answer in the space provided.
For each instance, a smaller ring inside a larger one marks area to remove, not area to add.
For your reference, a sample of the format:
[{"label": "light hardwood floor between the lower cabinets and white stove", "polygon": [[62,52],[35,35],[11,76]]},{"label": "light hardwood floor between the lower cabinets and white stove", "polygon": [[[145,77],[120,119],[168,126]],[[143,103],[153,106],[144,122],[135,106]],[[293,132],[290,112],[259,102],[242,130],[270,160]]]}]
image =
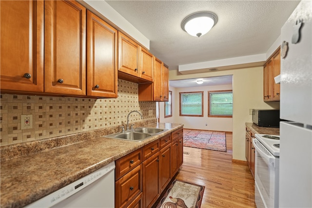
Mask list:
[{"label": "light hardwood floor between the lower cabinets and white stove", "polygon": [[227,152],[184,147],[176,179],[205,186],[201,208],[256,208],[254,179],[244,163],[232,162],[232,132]]}]

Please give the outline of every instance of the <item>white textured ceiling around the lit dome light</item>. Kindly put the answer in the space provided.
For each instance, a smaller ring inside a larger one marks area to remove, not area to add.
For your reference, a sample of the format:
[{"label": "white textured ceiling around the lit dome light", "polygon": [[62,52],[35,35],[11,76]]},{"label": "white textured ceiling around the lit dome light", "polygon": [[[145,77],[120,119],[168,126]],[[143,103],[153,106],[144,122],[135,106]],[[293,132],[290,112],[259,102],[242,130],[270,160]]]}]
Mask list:
[{"label": "white textured ceiling around the lit dome light", "polygon": [[[106,0],[146,38],[150,52],[169,66],[265,54],[299,1],[290,0]],[[218,22],[197,38],[181,21],[211,11]]]}]

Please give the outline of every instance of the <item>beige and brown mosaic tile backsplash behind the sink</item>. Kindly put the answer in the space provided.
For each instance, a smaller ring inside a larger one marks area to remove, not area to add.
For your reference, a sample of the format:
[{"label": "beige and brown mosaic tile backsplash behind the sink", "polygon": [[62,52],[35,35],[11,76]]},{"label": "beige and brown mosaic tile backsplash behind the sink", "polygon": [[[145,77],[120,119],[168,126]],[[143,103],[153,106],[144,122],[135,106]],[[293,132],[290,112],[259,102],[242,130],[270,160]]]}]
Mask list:
[{"label": "beige and brown mosaic tile backsplash behind the sink", "polygon": [[[126,126],[127,115],[137,110],[143,120],[156,118],[155,102],[138,101],[138,84],[118,79],[117,98],[73,98],[35,95],[0,96],[0,146]],[[149,115],[152,110],[152,115]],[[23,114],[33,115],[33,128],[21,130]],[[131,113],[129,123],[141,121]]]}]

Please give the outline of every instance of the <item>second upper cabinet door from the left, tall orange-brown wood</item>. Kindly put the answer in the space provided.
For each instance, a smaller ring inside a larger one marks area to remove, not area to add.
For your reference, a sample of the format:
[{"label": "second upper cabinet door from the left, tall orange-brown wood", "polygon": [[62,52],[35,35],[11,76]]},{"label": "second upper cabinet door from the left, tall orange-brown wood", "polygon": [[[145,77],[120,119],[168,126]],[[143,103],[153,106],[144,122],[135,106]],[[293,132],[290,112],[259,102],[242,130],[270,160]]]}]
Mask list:
[{"label": "second upper cabinet door from the left, tall orange-brown wood", "polygon": [[44,91],[86,95],[86,9],[77,1],[44,1]]}]

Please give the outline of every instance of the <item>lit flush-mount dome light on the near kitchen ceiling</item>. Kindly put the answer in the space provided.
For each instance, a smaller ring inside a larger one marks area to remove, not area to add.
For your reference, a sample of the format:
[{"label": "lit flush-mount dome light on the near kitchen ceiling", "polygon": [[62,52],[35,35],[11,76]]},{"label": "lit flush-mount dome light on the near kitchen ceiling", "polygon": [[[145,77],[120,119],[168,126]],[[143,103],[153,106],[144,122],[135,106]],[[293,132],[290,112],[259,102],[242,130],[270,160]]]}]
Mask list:
[{"label": "lit flush-mount dome light on the near kitchen ceiling", "polygon": [[181,27],[191,36],[205,35],[216,24],[218,18],[211,12],[197,12],[183,19]]}]

